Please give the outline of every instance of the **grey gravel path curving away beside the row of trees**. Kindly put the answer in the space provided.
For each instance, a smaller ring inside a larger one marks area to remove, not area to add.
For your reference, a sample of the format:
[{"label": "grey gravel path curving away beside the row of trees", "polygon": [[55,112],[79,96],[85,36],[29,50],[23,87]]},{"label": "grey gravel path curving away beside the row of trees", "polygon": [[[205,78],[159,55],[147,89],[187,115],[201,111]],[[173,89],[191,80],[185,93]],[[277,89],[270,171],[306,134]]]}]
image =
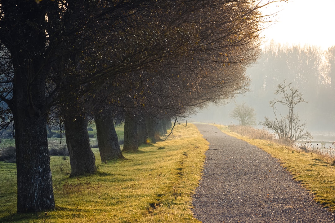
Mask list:
[{"label": "grey gravel path curving away beside the row of trees", "polygon": [[335,222],[268,153],[207,124],[210,143],[193,197],[195,218],[208,222]]}]

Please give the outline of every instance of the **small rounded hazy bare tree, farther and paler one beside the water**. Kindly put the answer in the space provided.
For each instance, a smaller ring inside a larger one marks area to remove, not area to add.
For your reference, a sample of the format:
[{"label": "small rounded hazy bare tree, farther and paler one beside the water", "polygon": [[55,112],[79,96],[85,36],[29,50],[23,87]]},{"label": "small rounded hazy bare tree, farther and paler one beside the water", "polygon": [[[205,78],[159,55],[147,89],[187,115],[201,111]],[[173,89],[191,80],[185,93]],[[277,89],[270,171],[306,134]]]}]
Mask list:
[{"label": "small rounded hazy bare tree, farther and paler one beside the water", "polygon": [[238,120],[240,125],[256,125],[255,109],[246,105],[246,103],[236,105],[230,113],[230,117]]}]

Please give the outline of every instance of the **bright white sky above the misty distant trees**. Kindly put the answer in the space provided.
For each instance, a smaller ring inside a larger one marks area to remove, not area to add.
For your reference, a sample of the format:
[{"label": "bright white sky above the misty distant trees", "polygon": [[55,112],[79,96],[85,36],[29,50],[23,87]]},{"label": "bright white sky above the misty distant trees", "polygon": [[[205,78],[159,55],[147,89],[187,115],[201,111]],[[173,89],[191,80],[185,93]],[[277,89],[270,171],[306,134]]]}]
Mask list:
[{"label": "bright white sky above the misty distant trees", "polygon": [[[267,1],[267,0],[265,0]],[[276,7],[278,5],[278,7]],[[335,45],[335,0],[288,0],[263,10],[279,11],[277,20],[262,32],[266,41],[310,44],[322,49]]]}]

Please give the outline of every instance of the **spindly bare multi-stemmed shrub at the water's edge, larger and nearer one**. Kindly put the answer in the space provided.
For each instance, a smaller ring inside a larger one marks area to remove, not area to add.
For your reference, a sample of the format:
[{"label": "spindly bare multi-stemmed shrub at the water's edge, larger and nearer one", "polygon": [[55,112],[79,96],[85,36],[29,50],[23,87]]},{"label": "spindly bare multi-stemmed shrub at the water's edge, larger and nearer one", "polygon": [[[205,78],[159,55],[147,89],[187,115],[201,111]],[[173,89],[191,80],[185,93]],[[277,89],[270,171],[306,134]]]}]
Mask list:
[{"label": "spindly bare multi-stemmed shrub at the water's edge, larger and nearer one", "polygon": [[[260,122],[264,127],[273,130],[279,139],[286,139],[295,142],[298,139],[312,139],[312,134],[306,131],[306,121],[301,122],[298,112],[294,112],[294,108],[297,104],[306,102],[303,99],[303,94],[298,91],[298,88],[288,85],[285,83],[278,84],[276,86],[275,95],[282,95],[281,99],[273,99],[270,101],[270,107],[273,108],[275,120],[270,120],[265,117],[265,121]],[[307,102],[306,102],[307,103]],[[287,108],[288,113],[286,115],[277,114],[276,105],[281,104]]]}]

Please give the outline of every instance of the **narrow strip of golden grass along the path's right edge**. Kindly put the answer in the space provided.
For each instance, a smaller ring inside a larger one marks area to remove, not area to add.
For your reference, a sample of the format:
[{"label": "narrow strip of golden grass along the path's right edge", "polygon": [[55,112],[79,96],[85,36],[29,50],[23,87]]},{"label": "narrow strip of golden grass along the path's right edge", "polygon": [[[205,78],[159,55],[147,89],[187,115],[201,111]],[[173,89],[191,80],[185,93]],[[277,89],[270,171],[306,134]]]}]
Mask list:
[{"label": "narrow strip of golden grass along the path's right edge", "polygon": [[215,125],[224,133],[255,145],[280,160],[293,178],[314,194],[316,202],[335,211],[334,159],[317,153],[297,151],[289,146],[252,139],[231,132],[226,126]]}]

